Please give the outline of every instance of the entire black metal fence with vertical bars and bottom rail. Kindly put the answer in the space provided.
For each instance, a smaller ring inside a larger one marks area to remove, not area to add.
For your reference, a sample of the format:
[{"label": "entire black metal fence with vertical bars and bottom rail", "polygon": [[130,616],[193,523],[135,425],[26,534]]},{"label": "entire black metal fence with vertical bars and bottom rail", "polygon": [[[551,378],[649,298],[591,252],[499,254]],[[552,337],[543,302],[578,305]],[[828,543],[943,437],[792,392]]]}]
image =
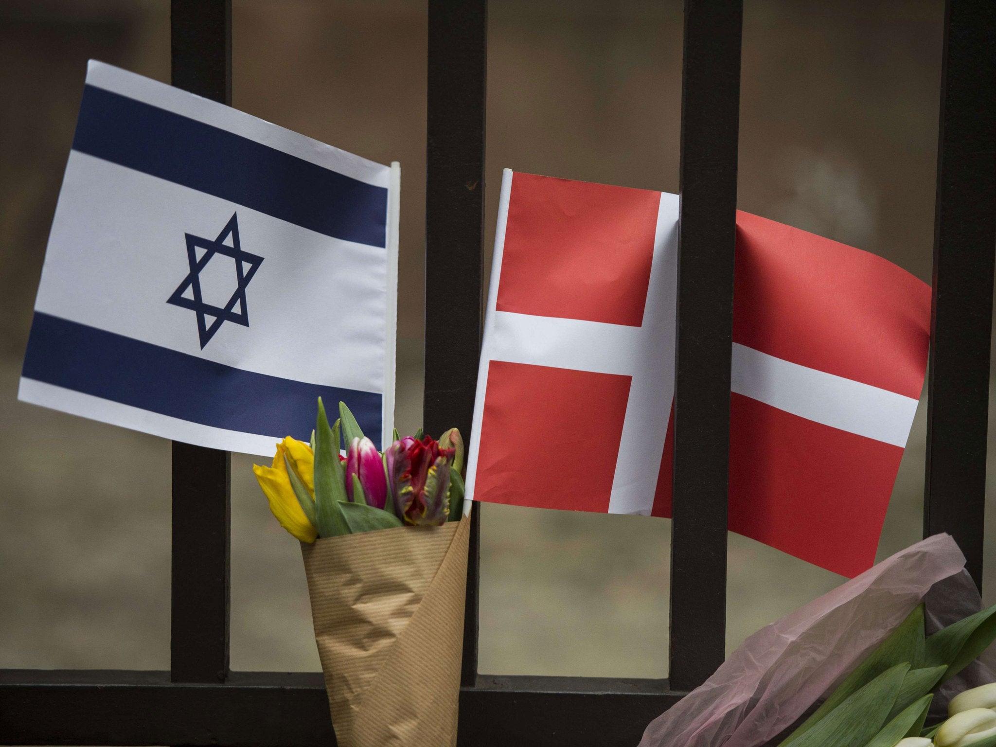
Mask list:
[{"label": "entire black metal fence with vertical bars and bottom rail", "polygon": [[[429,0],[428,13],[424,425],[469,433],[482,308],[487,1]],[[633,745],[723,659],[741,18],[742,0],[685,2],[670,678],[478,674],[475,506],[461,745]],[[925,534],[954,536],[981,586],[996,3],[947,0],[942,65],[923,523]],[[231,74],[231,0],[172,0],[173,85],[229,104]],[[173,464],[170,671],[2,670],[0,744],[334,743],[321,674],[229,671],[229,455],[174,443]]]}]

